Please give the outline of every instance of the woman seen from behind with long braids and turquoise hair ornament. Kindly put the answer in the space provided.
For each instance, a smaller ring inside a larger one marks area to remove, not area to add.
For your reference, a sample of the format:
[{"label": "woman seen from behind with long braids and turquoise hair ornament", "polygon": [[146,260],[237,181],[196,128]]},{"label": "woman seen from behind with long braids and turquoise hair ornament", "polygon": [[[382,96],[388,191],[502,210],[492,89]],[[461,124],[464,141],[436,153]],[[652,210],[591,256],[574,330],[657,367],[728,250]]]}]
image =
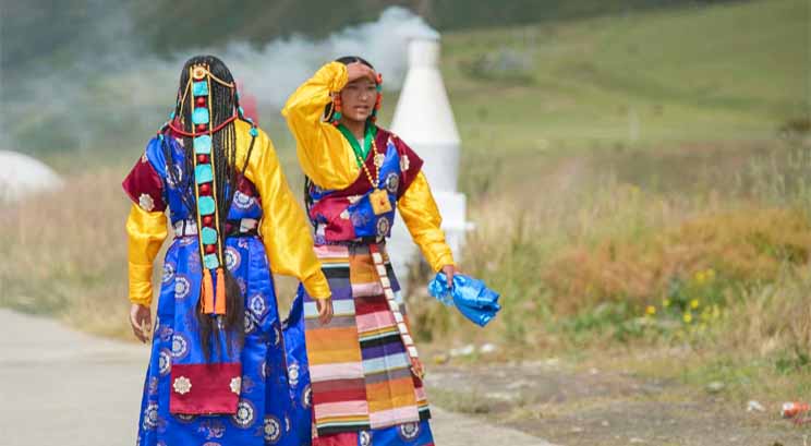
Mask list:
[{"label": "woman seen from behind with long braids and turquoise hair ornament", "polygon": [[[148,340],[153,262],[169,231],[138,423],[141,446],[290,445],[285,340],[271,273],[330,291],[268,136],[244,118],[228,68],[190,59],[170,121],[123,182],[131,324]],[[167,210],[170,225],[167,225]],[[170,229],[168,229],[170,226]]]}]

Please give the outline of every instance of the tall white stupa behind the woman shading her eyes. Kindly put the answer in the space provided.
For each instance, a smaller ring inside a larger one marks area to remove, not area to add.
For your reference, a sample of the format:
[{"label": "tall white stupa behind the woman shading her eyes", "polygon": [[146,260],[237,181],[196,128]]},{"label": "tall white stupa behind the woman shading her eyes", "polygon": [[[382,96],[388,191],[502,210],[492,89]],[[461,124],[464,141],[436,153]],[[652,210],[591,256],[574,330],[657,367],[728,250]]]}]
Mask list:
[{"label": "tall white stupa behind the woman shading her eyes", "polygon": [[[471,228],[467,200],[457,192],[460,138],[445,91],[439,62],[439,36],[425,35],[409,44],[409,70],[395,110],[391,130],[425,161],[423,171],[443,215],[443,229],[457,260]],[[389,241],[389,255],[401,282],[417,248],[398,216]]]}]

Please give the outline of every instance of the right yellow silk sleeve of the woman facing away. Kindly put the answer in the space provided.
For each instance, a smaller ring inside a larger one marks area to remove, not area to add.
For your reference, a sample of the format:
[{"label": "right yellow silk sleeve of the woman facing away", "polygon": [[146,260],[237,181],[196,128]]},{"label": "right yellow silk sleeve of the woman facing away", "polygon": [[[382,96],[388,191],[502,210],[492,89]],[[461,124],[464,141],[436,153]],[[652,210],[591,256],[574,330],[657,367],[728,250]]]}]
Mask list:
[{"label": "right yellow silk sleeve of the woman facing away", "polygon": [[[247,145],[244,143],[250,141],[250,136],[244,136],[246,133],[238,133],[246,138],[240,145]],[[245,176],[256,185],[262,200],[264,214],[259,232],[270,269],[276,274],[298,277],[314,299],[329,298],[329,284],[313,251],[310,221],[288,186],[274,145],[262,131],[255,144]]]}]

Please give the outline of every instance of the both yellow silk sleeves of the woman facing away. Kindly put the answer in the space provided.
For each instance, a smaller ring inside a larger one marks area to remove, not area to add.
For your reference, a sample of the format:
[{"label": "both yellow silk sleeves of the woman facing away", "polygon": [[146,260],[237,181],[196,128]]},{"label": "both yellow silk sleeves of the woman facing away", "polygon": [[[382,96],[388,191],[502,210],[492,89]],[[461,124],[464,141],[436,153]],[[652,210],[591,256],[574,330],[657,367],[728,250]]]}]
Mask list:
[{"label": "both yellow silk sleeves of the woman facing away", "polygon": [[[249,133],[251,125],[242,121],[237,121],[234,125],[237,130],[237,166],[241,169],[251,144]],[[264,214],[259,224],[259,233],[270,261],[270,270],[275,274],[299,278],[310,296],[315,299],[329,298],[329,285],[324,277],[324,273],[322,273],[320,262],[313,251],[310,222],[288,186],[270,138],[262,130],[256,136],[253,153],[245,167],[244,174],[254,183],[262,200]],[[162,217],[162,229],[158,229],[157,224],[143,225],[144,219],[133,219],[132,214],[126,222],[128,233],[130,234],[130,300],[136,303],[152,301],[152,285],[147,286],[143,281],[145,277],[146,280],[150,279],[152,263],[160,244],[166,239],[166,217],[164,214],[146,214],[150,216],[149,221],[153,218],[158,218],[152,217],[153,215],[160,215]],[[159,238],[158,242],[159,233],[162,233],[162,237]],[[153,250],[150,243],[157,243],[157,248]],[[133,268],[133,258],[136,265],[140,265],[136,268]],[[148,273],[144,270],[146,265],[149,267]]]}]

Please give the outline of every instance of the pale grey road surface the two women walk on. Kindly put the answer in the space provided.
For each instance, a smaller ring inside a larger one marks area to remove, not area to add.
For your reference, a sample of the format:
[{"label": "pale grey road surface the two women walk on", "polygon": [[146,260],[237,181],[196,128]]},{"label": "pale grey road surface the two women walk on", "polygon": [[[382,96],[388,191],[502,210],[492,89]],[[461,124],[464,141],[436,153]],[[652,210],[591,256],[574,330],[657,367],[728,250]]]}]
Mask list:
[{"label": "pale grey road surface the two women walk on", "polygon": [[[0,443],[4,446],[135,444],[145,346],[95,338],[0,310]],[[548,446],[505,427],[434,408],[440,446]]]}]

